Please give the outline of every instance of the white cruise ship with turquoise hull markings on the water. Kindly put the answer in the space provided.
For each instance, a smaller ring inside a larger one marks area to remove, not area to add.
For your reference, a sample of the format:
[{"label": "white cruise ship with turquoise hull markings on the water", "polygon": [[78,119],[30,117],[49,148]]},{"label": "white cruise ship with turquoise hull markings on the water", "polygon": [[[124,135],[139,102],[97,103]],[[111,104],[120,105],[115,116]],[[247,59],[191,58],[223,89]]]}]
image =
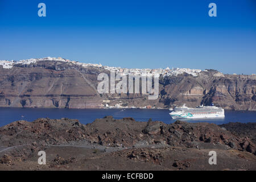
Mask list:
[{"label": "white cruise ship with turquoise hull markings on the water", "polygon": [[189,108],[185,104],[181,107],[175,107],[171,110],[172,119],[185,118],[219,118],[225,117],[224,109],[216,106],[197,106],[196,108]]}]

